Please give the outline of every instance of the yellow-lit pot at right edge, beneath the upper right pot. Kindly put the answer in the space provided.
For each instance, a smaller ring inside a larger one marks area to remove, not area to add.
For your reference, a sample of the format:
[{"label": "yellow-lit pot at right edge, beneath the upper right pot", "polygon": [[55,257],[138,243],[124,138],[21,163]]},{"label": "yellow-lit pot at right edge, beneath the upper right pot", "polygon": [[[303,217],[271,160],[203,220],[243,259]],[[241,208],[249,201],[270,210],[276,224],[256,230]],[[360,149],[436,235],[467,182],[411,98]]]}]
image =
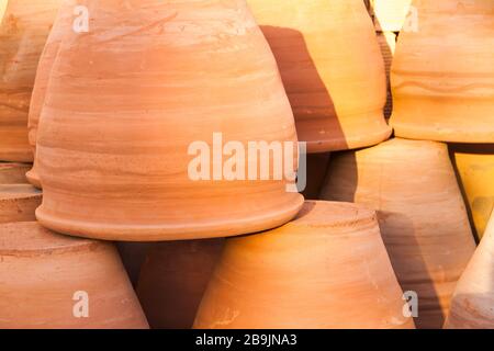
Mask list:
[{"label": "yellow-lit pot at right edge, beneath the upper right pot", "polygon": [[478,239],[494,210],[494,144],[450,145]]}]

